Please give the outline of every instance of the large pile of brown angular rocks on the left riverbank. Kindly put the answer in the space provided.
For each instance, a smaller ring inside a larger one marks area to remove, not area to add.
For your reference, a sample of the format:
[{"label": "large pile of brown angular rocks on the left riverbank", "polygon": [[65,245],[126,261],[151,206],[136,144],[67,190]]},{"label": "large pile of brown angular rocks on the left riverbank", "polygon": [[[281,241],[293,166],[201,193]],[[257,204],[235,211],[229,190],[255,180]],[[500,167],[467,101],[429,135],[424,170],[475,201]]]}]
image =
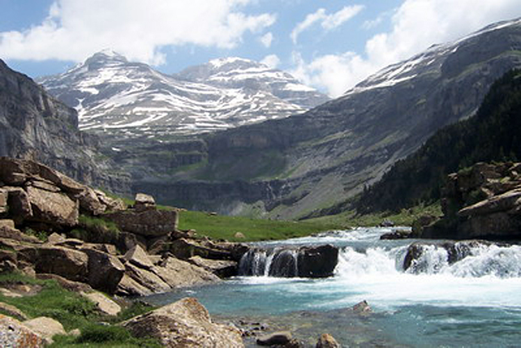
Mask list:
[{"label": "large pile of brown angular rocks on the left riverbank", "polygon": [[52,274],[129,296],[237,274],[247,247],[197,240],[177,229],[178,217],[146,194],[127,208],[41,163],[0,158],[0,272]]}]

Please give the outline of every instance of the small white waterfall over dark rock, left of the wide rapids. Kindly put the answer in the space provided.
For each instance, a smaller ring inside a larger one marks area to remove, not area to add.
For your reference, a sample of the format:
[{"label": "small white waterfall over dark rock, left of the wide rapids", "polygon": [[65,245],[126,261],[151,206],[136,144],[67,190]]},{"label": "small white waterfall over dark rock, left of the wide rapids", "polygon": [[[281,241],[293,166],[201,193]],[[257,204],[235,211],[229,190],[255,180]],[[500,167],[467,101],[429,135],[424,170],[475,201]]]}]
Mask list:
[{"label": "small white waterfall over dark rock, left of the wide rapids", "polygon": [[239,263],[240,276],[298,276],[297,249],[250,249]]}]

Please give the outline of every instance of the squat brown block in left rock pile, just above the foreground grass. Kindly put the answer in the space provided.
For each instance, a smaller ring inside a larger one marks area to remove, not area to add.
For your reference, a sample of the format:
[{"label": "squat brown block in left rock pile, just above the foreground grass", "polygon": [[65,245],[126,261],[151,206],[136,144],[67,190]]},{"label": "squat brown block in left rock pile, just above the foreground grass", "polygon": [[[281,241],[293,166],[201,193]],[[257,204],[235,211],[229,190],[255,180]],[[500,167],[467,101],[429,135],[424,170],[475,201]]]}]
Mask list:
[{"label": "squat brown block in left rock pile, just above the foreground grass", "polygon": [[37,273],[58,274],[72,281],[87,281],[89,258],[82,251],[46,245],[40,247],[37,253]]}]

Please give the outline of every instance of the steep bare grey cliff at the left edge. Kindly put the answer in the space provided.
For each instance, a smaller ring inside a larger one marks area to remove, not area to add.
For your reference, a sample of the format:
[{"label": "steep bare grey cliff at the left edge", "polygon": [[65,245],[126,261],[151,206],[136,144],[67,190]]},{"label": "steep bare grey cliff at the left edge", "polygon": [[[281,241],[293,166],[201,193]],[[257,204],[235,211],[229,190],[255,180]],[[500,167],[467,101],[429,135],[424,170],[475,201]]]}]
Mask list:
[{"label": "steep bare grey cliff at the left edge", "polygon": [[0,60],[0,156],[38,160],[78,181],[117,192],[128,178],[95,163],[99,140],[78,131],[76,110]]}]

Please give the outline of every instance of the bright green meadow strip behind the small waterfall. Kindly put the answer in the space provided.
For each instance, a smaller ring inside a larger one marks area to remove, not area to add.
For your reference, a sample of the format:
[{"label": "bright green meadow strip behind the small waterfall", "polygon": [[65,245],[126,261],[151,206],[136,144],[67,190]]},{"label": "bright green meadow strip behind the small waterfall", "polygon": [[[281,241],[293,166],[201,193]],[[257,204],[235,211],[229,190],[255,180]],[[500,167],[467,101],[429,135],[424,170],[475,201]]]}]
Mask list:
[{"label": "bright green meadow strip behind the small waterfall", "polygon": [[[293,222],[269,219],[250,219],[210,215],[196,211],[183,211],[179,215],[179,229],[195,229],[199,235],[231,241],[281,240],[331,231],[340,226],[330,222]],[[245,239],[235,238],[235,233],[245,235]]]}]

